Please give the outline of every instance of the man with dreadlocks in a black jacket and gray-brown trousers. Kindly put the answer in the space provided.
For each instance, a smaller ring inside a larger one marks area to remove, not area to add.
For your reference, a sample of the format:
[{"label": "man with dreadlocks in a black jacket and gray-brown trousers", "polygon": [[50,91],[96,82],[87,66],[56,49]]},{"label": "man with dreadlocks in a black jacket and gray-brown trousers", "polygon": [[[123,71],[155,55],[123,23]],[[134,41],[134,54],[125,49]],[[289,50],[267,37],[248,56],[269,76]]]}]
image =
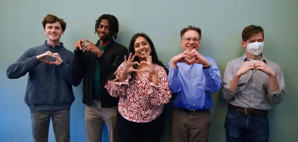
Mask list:
[{"label": "man with dreadlocks in a black jacket and gray-brown trousers", "polygon": [[[119,141],[116,132],[116,115],[119,98],[113,98],[105,89],[111,74],[128,57],[128,50],[115,42],[119,31],[115,16],[101,15],[95,23],[99,40],[94,45],[88,39],[75,42],[73,70],[78,80],[83,79],[83,103],[88,141],[101,141],[103,125],[108,127],[110,141]],[[84,43],[87,43],[86,45]],[[84,52],[83,50],[86,49]]]}]

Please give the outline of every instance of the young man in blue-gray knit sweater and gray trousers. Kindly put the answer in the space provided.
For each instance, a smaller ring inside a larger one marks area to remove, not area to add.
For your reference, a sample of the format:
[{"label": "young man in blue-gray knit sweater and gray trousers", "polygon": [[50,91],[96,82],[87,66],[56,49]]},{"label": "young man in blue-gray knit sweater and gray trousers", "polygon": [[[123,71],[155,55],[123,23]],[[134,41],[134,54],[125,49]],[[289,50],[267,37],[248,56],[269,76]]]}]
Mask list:
[{"label": "young man in blue-gray knit sweater and gray trousers", "polygon": [[74,54],[60,42],[66,28],[63,19],[46,15],[42,24],[47,40],[28,49],[6,74],[16,79],[29,72],[25,103],[30,108],[34,141],[48,141],[51,117],[56,141],[70,141],[70,106],[75,100],[72,85],[79,84],[72,73]]}]

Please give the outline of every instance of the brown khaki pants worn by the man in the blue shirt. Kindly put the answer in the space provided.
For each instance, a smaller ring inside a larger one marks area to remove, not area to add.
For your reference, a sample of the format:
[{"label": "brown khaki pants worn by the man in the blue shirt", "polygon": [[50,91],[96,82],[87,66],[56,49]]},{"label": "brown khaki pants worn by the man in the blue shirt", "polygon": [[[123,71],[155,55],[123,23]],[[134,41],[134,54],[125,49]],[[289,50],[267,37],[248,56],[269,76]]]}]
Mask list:
[{"label": "brown khaki pants worn by the man in the blue shirt", "polygon": [[170,115],[172,142],[207,142],[210,124],[209,110],[188,114],[173,108]]}]

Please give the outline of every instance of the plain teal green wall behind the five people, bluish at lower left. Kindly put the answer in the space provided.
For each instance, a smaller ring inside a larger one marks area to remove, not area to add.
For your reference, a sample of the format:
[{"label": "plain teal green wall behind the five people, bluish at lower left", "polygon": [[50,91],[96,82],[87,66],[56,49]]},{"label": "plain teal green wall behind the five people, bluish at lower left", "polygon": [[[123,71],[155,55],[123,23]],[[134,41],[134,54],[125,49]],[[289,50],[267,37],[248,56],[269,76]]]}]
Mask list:
[{"label": "plain teal green wall behind the five people, bluish at lower left", "polygon": [[[297,7],[297,0],[1,0],[0,141],[32,141],[30,110],[24,103],[28,76],[8,79],[6,69],[25,50],[46,40],[41,21],[47,14],[67,22],[61,42],[71,51],[79,38],[96,42],[98,36],[93,34],[95,20],[102,14],[112,14],[119,21],[117,42],[128,47],[133,34],[147,33],[164,64],[182,52],[181,29],[187,25],[198,26],[202,30],[199,52],[215,59],[222,77],[226,63],[244,53],[240,44],[243,28],[251,24],[263,26],[263,54],[281,66],[286,85],[285,101],[272,106],[269,111],[269,141],[297,141]],[[73,90],[76,100],[71,108],[71,140],[83,142],[86,132],[82,84]],[[209,141],[225,141],[227,102],[220,91],[211,95],[214,106],[210,109]],[[169,109],[167,106],[167,114]],[[170,141],[168,121],[167,117],[161,141]],[[104,135],[107,135],[106,130]],[[55,141],[52,128],[49,141]],[[104,141],[107,141],[106,136]]]}]

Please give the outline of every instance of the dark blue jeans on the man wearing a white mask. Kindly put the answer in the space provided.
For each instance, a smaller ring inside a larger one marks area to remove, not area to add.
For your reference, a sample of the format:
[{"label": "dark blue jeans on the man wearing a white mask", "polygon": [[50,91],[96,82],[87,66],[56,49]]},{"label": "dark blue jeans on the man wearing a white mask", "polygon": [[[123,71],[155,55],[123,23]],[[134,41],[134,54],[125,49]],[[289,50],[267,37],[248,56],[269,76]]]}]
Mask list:
[{"label": "dark blue jeans on the man wearing a white mask", "polygon": [[267,115],[245,114],[228,109],[226,114],[227,142],[267,142],[269,139],[269,121]]}]

